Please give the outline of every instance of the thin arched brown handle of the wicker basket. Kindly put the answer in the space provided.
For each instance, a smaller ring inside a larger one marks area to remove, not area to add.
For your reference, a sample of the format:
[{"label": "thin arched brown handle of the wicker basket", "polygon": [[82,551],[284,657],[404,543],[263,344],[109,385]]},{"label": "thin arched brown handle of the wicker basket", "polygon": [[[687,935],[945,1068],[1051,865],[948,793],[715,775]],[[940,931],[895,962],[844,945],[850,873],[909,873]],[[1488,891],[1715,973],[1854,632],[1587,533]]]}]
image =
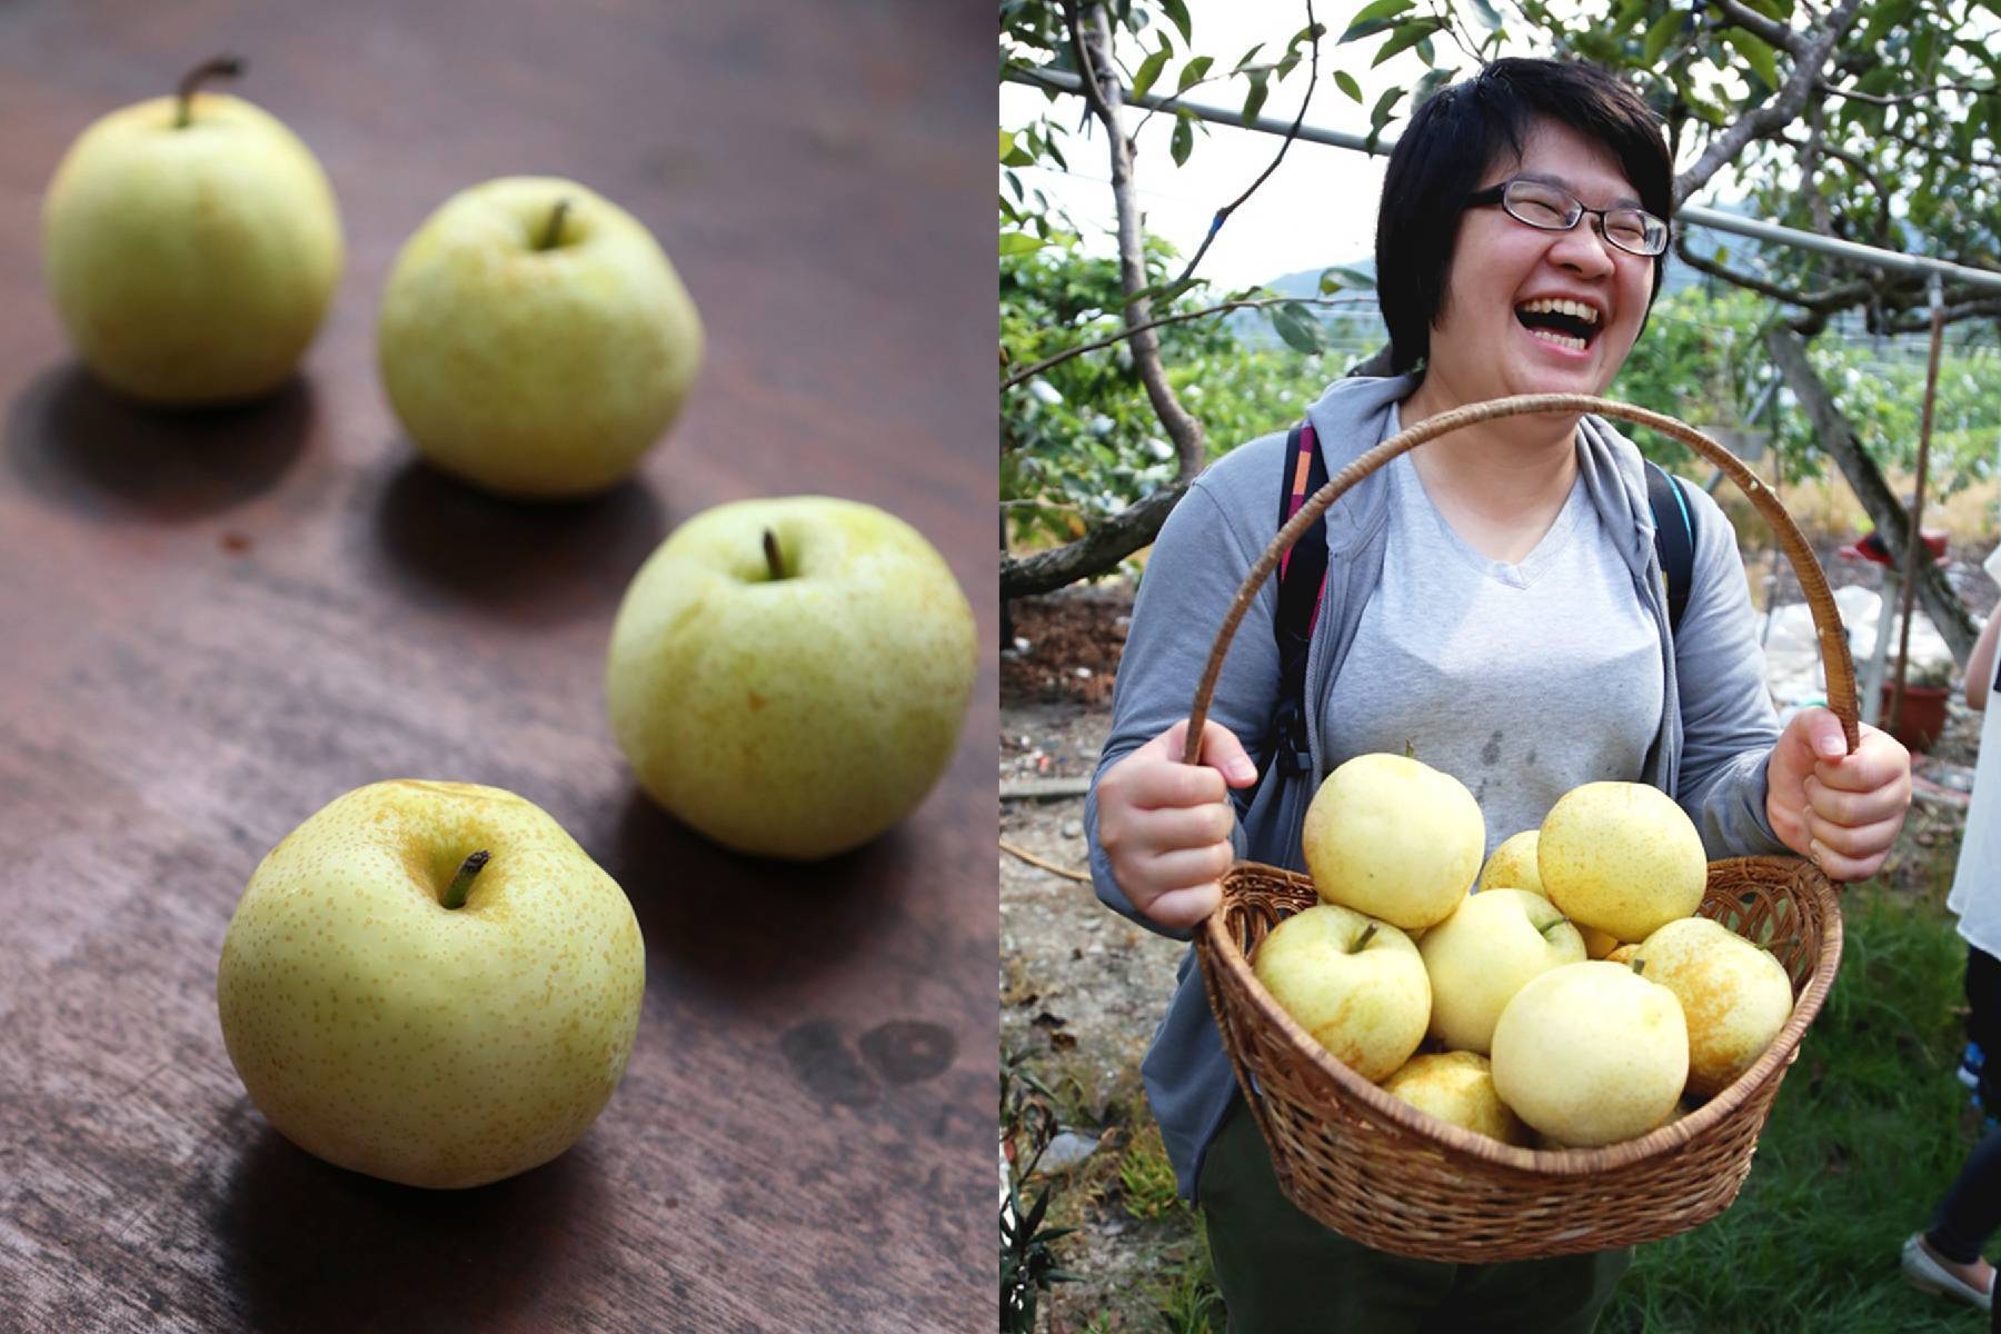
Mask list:
[{"label": "thin arched brown handle of the wicker basket", "polygon": [[1283,528],[1279,528],[1271,546],[1267,546],[1265,554],[1259,556],[1255,566],[1251,566],[1243,586],[1237,590],[1237,598],[1231,602],[1231,610],[1223,616],[1223,628],[1217,630],[1217,642],[1209,650],[1209,664],[1203,668],[1203,680],[1195,690],[1195,708],[1189,710],[1189,740],[1183,750],[1183,764],[1199,764],[1203,758],[1203,722],[1209,718],[1209,700],[1215,696],[1217,678],[1223,674],[1223,658],[1231,650],[1231,638],[1237,634],[1237,626],[1243,622],[1245,612],[1251,610],[1251,600],[1257,598],[1259,588],[1263,588],[1265,580],[1271,578],[1271,572],[1279,568],[1279,560],[1293,550],[1293,544],[1299,542],[1307,528],[1313,526],[1313,520],[1325,514],[1335,500],[1339,500],[1365,476],[1399,454],[1415,450],[1427,440],[1437,440],[1451,430],[1473,426],[1475,422],[1525,416],[1531,412],[1595,412],[1599,416],[1613,416],[1641,426],[1651,426],[1663,436],[1681,440],[1685,446],[1713,462],[1745,496],[1751,498],[1757,512],[1763,514],[1765,522],[1769,522],[1773,532],[1779,534],[1779,544],[1785,548],[1785,556],[1793,564],[1793,572],[1799,576],[1799,586],[1807,594],[1807,610],[1813,612],[1813,630],[1821,640],[1821,668],[1827,674],[1827,706],[1837,718],[1841,718],[1841,734],[1847,738],[1849,754],[1855,754],[1855,746],[1861,744],[1861,730],[1857,726],[1859,712],[1855,704],[1855,664],[1849,660],[1849,640],[1841,630],[1841,610],[1835,606],[1835,594],[1827,588],[1827,574],[1821,570],[1821,562],[1813,556],[1807,536],[1799,530],[1799,524],[1793,522],[1793,516],[1785,512],[1785,506],[1779,504],[1779,498],[1771,494],[1771,488],[1765,486],[1765,482],[1751,472],[1741,458],[1725,450],[1721,444],[1693,426],[1661,412],[1649,412],[1647,408],[1635,408],[1611,398],[1593,398],[1591,394],[1517,394],[1515,398],[1491,398],[1487,402],[1453,408],[1451,412],[1429,416],[1417,426],[1403,428],[1329,478],[1327,486],[1313,492],[1313,496],[1299,506],[1299,512],[1293,514]]}]

